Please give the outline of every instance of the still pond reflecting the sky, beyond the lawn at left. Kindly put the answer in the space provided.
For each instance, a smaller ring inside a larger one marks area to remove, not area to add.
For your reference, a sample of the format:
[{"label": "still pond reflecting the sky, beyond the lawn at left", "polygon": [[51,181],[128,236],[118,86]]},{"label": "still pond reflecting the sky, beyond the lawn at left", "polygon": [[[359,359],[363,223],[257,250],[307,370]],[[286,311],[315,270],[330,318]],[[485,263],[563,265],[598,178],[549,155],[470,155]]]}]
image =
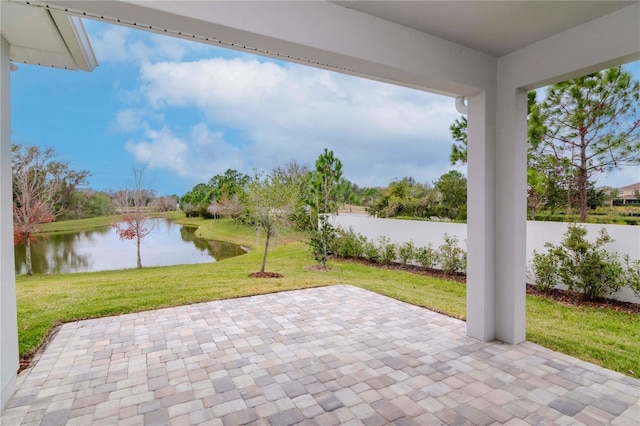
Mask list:
[{"label": "still pond reflecting the sky, beyond the lawn at left", "polygon": [[[245,251],[235,244],[195,236],[197,228],[153,219],[153,231],[142,240],[142,266],[215,262]],[[15,247],[16,274],[25,274],[24,246]],[[135,240],[120,240],[112,227],[51,235],[31,244],[34,274],[92,272],[136,267]]]}]

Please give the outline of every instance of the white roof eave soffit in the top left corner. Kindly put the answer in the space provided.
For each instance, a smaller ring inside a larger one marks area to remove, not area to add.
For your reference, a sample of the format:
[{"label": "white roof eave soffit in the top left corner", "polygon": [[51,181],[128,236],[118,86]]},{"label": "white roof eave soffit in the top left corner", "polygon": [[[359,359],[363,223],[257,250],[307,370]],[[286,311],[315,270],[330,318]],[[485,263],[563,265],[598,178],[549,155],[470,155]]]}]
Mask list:
[{"label": "white roof eave soffit in the top left corner", "polygon": [[98,61],[82,21],[66,13],[0,1],[0,32],[15,63],[92,71]]}]

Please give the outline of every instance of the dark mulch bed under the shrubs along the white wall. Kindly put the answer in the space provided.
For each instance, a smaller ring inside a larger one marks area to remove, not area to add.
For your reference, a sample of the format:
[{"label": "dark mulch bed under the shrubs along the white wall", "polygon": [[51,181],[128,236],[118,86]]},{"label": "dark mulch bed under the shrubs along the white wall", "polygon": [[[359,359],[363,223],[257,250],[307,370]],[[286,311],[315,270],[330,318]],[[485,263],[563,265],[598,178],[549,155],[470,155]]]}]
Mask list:
[{"label": "dark mulch bed under the shrubs along the white wall", "polygon": [[[366,259],[340,259],[342,262],[352,262],[352,263],[360,263],[364,265],[374,266],[376,268],[381,269],[390,269],[396,271],[406,271],[412,274],[425,275],[434,278],[441,278],[449,281],[456,281],[459,283],[466,283],[467,276],[465,274],[445,274],[441,270],[438,269],[425,269],[421,266],[416,265],[402,265],[400,263],[391,263],[388,265],[382,265],[380,263],[373,263]],[[562,303],[563,305],[568,306],[583,306],[594,309],[602,309],[609,308],[619,312],[626,312],[629,314],[637,314],[640,315],[640,304],[638,303],[630,303],[630,302],[621,302],[619,300],[613,299],[600,299],[595,301],[584,300],[582,295],[579,293],[554,289],[549,292],[540,291],[536,286],[527,284],[527,294],[532,294],[541,297],[547,297],[549,299],[553,299],[558,303]]]}]

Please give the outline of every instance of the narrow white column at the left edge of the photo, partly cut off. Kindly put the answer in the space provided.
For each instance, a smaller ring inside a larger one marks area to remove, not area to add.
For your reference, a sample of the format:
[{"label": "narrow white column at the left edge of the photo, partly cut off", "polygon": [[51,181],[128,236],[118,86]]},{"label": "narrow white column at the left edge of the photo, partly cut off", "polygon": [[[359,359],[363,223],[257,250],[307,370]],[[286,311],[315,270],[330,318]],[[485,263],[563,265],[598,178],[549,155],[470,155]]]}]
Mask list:
[{"label": "narrow white column at the left edge of the photo, partly cut off", "polygon": [[15,391],[18,360],[16,278],[13,260],[11,97],[9,43],[0,35],[0,407]]}]

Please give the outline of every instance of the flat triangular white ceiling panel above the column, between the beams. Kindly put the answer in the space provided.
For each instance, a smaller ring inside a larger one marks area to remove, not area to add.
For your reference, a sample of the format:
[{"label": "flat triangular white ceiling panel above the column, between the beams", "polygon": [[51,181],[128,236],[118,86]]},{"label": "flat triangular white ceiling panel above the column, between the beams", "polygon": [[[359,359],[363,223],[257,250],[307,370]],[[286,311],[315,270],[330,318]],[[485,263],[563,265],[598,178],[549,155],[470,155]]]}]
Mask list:
[{"label": "flat triangular white ceiling panel above the column, between the beams", "polygon": [[476,0],[332,3],[499,58],[638,1]]}]

